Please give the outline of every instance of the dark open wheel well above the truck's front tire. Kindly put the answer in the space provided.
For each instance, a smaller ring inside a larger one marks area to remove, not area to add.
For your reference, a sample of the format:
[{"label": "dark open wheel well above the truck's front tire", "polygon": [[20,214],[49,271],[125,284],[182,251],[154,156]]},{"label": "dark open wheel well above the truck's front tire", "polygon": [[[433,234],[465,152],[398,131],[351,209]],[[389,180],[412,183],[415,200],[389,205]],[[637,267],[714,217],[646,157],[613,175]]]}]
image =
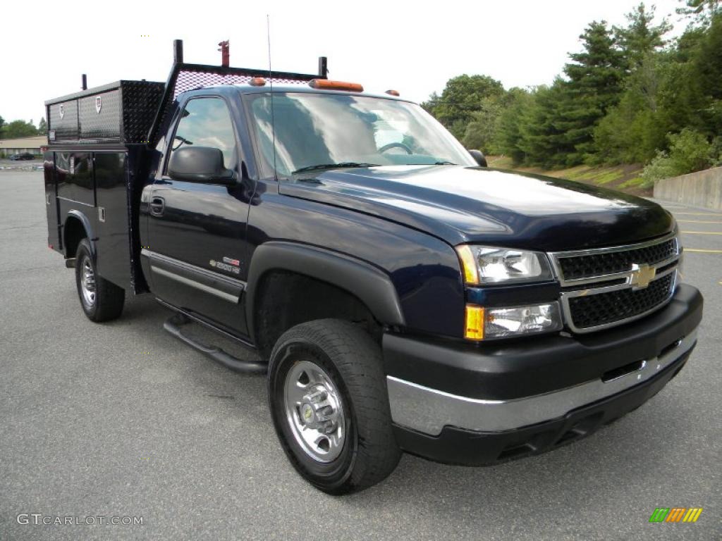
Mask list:
[{"label": "dark open wheel well above the truck's front tire", "polygon": [[331,283],[288,271],[270,271],[256,289],[255,337],[268,359],[279,337],[303,322],[333,318],[361,325],[378,342],[381,325],[357,296]]}]

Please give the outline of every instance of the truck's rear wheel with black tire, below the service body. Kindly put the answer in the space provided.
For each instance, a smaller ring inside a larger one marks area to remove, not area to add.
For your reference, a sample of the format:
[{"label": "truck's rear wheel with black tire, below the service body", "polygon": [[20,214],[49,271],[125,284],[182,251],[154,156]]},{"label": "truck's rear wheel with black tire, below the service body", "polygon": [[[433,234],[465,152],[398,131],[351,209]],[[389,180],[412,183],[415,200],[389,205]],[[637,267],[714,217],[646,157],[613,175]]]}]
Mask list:
[{"label": "truck's rear wheel with black tire, below the service body", "polygon": [[[88,293],[88,289],[84,286],[84,283],[86,283],[84,276],[88,269],[92,272],[92,278],[95,279],[95,291],[92,292],[92,295]],[[88,239],[80,241],[75,254],[75,285],[78,290],[80,306],[91,321],[115,320],[123,312],[126,292],[123,288],[98,276]]]}]

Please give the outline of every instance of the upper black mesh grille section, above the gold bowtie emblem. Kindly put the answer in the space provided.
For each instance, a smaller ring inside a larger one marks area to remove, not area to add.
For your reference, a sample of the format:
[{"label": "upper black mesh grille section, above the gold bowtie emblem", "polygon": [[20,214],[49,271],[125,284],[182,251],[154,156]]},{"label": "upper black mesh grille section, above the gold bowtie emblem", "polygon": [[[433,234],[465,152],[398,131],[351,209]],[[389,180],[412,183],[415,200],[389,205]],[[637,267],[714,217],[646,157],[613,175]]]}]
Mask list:
[{"label": "upper black mesh grille section, above the gold bowtie emblem", "polygon": [[656,245],[632,250],[560,257],[558,261],[562,278],[567,281],[624,273],[632,268],[632,263],[654,265],[673,258],[676,254],[677,239],[671,238]]}]

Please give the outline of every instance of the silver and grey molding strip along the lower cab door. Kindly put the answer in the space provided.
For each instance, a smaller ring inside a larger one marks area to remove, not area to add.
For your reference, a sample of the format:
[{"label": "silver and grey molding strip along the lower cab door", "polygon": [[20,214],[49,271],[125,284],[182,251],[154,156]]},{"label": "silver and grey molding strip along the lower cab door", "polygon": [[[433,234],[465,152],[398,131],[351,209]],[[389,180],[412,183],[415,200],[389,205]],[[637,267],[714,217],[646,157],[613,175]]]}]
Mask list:
[{"label": "silver and grey molding strip along the lower cab door", "polygon": [[222,276],[205,268],[169,258],[167,255],[161,255],[145,248],[141,250],[141,255],[148,258],[152,273],[205,291],[227,302],[238,304],[245,289],[245,282],[242,280]]}]

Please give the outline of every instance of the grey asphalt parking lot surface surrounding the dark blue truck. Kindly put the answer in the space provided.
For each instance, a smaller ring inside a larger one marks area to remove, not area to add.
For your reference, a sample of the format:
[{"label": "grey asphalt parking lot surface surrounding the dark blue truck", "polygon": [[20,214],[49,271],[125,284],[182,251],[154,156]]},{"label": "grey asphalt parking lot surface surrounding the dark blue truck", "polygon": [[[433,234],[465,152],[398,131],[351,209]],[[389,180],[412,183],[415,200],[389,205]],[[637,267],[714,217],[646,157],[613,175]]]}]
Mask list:
[{"label": "grey asphalt parking lot surface surrounding the dark blue truck", "polygon": [[[287,462],[263,377],[183,346],[149,296],[115,322],[87,320],[73,271],[47,247],[41,173],[0,172],[0,540],[720,539],[722,211],[667,207],[705,318],[660,394],[538,457],[465,468],[406,455],[386,482],[334,498]],[[704,511],[650,524],[656,507]]]}]

